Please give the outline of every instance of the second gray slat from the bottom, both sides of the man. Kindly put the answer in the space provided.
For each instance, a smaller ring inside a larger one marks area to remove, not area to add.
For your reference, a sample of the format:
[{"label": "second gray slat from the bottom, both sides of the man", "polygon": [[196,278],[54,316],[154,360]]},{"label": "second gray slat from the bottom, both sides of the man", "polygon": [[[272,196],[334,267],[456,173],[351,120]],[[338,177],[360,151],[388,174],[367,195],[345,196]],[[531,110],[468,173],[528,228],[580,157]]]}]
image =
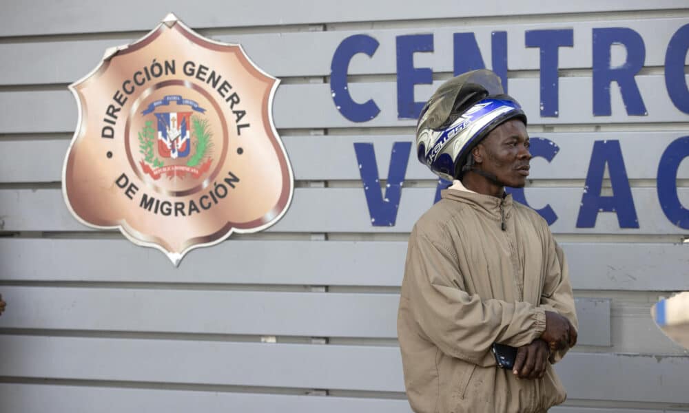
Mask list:
[{"label": "second gray slat from the bottom, both sides of the man", "polygon": [[[0,346],[9,377],[404,391],[396,347],[17,335]],[[556,369],[572,399],[689,403],[686,357],[574,352]]]}]

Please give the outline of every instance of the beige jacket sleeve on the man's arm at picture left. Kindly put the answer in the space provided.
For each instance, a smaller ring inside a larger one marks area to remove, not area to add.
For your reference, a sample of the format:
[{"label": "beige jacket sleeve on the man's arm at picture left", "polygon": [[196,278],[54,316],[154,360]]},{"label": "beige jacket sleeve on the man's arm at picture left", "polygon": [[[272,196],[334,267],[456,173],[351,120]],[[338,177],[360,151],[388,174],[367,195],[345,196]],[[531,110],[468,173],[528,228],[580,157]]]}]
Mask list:
[{"label": "beige jacket sleeve on the man's arm at picture left", "polygon": [[546,326],[543,308],[466,293],[457,257],[451,249],[413,232],[405,282],[411,312],[430,341],[452,357],[484,363],[493,343],[523,346]]}]

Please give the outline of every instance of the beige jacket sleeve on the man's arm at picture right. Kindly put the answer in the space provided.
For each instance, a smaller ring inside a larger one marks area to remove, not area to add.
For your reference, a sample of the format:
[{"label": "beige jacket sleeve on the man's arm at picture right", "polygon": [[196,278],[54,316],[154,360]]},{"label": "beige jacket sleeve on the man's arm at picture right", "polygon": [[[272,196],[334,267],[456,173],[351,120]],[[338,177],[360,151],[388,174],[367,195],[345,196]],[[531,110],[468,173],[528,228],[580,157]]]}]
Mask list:
[{"label": "beige jacket sleeve on the man's arm at picture right", "polygon": [[[553,239],[553,235],[550,235],[549,240],[546,279],[541,296],[541,307],[544,310],[554,311],[566,317],[578,332],[579,321],[577,320],[572,284],[569,280],[567,260],[564,251]],[[553,352],[550,359],[551,363],[557,363],[557,361],[562,360],[567,350],[568,348],[565,348]]]}]

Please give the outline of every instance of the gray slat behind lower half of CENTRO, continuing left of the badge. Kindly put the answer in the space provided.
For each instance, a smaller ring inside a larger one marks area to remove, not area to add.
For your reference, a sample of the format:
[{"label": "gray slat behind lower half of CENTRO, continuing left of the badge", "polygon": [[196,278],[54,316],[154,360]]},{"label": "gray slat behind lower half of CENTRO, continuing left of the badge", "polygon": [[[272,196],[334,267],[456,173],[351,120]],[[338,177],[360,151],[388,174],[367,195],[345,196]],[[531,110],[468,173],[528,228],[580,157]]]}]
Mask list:
[{"label": "gray slat behind lower half of CENTRO, continuing left of the badge", "polygon": [[[689,75],[686,76],[689,79]],[[425,100],[431,89],[442,82],[418,87],[423,92],[417,96]],[[561,99],[559,117],[543,118],[540,114],[537,78],[515,78],[510,83],[510,94],[520,100],[531,125],[556,123],[659,123],[685,122],[686,114],[675,107],[665,89],[663,76],[639,75],[637,84],[644,97],[648,116],[628,116],[619,95],[611,99],[611,116],[593,116],[593,86],[590,77],[561,78],[560,96],[578,96],[577,99]],[[394,82],[351,83],[349,91],[354,100],[372,98],[381,108],[380,114],[365,125],[348,120],[333,104],[331,89],[325,83],[283,85],[275,95],[274,118],[278,128],[342,128],[342,127],[393,127],[415,126],[415,119],[398,119],[397,85]],[[76,127],[76,103],[67,91],[0,92],[0,133],[19,134],[29,132],[74,131]],[[105,107],[102,108],[105,113]],[[37,112],[41,117],[37,118]],[[308,114],[308,116],[305,116]]]}]

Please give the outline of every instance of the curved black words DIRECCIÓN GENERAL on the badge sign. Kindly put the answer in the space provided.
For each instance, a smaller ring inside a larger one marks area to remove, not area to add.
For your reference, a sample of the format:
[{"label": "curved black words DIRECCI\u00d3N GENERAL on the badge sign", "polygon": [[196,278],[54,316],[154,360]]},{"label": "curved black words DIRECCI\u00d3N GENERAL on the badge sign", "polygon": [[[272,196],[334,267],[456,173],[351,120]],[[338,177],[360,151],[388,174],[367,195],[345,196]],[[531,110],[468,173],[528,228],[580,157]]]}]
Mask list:
[{"label": "curved black words DIRECCI\u00d3N GENERAL on the badge sign", "polygon": [[[188,77],[210,85],[225,100],[232,114],[234,114],[238,136],[241,136],[242,129],[251,127],[250,123],[240,123],[247,116],[247,112],[241,109],[239,94],[237,92],[229,93],[232,90],[232,84],[225,77],[218,74],[215,70],[193,61],[185,61],[182,72]],[[137,70],[130,78],[123,81],[122,87],[113,94],[112,103],[105,108],[103,123],[107,125],[103,125],[101,128],[101,138],[114,138],[114,125],[116,125],[116,120],[119,118],[119,112],[129,100],[129,96],[132,96],[139,87],[161,77],[175,76],[176,73],[177,65],[174,59],[163,61],[163,63],[158,63],[154,59],[150,67],[143,67],[141,70]]]}]

